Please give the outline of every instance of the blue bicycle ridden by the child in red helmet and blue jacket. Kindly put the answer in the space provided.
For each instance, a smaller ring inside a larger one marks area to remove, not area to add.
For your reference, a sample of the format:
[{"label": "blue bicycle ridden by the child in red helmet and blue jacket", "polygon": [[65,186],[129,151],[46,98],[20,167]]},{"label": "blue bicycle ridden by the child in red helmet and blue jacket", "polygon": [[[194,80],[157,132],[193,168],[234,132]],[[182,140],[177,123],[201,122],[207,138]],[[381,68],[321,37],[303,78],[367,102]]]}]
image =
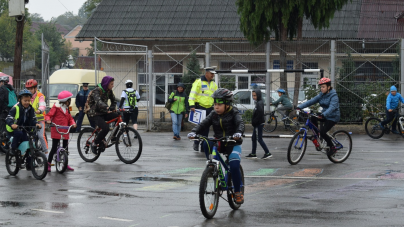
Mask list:
[{"label": "blue bicycle ridden by the child in red helmet and blue jacket", "polygon": [[[315,114],[302,112],[308,116],[318,117]],[[327,142],[321,138],[320,130],[311,122],[310,117],[308,117],[306,121],[306,126],[313,133],[309,139],[313,142],[316,150],[327,154],[323,151],[327,147]],[[301,128],[300,131],[292,137],[289,143],[287,158],[291,165],[296,165],[303,159],[307,147],[307,128]],[[350,133],[345,130],[338,130],[332,135],[327,132],[327,135],[331,137],[331,141],[337,149],[335,154],[331,156],[327,155],[328,159],[333,163],[343,163],[348,159],[352,151],[352,138]]]}]

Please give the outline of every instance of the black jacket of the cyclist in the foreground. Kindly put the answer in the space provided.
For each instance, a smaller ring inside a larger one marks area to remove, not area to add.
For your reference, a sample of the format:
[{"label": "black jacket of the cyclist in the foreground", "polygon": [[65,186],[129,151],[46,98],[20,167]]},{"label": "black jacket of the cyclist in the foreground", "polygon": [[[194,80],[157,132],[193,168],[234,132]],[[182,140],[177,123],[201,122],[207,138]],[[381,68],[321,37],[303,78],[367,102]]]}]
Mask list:
[{"label": "black jacket of the cyclist in the foreground", "polygon": [[[244,133],[244,121],[241,118],[241,115],[238,111],[237,108],[231,107],[229,111],[226,113],[219,115],[215,111],[212,111],[206,118],[203,120],[199,125],[195,126],[192,129],[192,132],[195,134],[200,134],[202,133],[205,129],[209,128],[210,126],[213,126],[213,132],[214,132],[214,137],[215,138],[222,138],[224,136],[233,136],[234,133]],[[233,145],[240,145],[243,143],[243,140],[240,139],[236,142],[236,144]],[[230,144],[229,144],[230,145]],[[233,150],[233,146],[227,146],[224,144],[224,146],[228,147],[226,149],[226,152],[222,149],[221,151],[223,153],[231,153]]]}]

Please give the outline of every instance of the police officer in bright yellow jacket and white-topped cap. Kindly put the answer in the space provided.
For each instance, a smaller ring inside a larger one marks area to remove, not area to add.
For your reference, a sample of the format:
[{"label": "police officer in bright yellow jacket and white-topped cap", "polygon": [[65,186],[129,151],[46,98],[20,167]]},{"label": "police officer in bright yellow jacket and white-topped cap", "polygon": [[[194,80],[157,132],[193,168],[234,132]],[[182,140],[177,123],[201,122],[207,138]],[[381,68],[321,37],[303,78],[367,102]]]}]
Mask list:
[{"label": "police officer in bright yellow jacket and white-topped cap", "polygon": [[[192,112],[195,109],[206,110],[206,116],[213,110],[213,98],[211,97],[213,92],[217,90],[217,84],[213,81],[215,77],[216,66],[205,68],[205,75],[200,79],[195,80],[192,84],[191,93],[189,94],[189,108]],[[209,129],[206,129],[201,135],[208,136]],[[199,150],[199,141],[194,142],[194,150]],[[202,149],[201,149],[202,150]]]}]

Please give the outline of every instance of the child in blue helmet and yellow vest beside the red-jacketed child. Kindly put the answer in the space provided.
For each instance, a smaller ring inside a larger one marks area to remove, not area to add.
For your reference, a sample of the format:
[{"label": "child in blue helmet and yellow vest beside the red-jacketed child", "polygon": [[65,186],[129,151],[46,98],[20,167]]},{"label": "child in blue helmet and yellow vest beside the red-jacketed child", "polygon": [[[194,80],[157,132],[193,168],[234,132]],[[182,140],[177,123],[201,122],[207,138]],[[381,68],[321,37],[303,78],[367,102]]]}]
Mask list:
[{"label": "child in blue helmet and yellow vest beside the red-jacketed child", "polygon": [[[11,108],[6,118],[8,136],[9,138],[13,137],[9,151],[11,155],[18,155],[16,151],[18,145],[23,141],[28,141],[28,135],[24,131],[18,130],[19,126],[41,128],[41,125],[37,123],[34,108],[31,106],[31,97],[31,92],[23,89],[18,94],[18,103]],[[30,170],[30,166],[27,165],[26,167],[27,170]]]}]

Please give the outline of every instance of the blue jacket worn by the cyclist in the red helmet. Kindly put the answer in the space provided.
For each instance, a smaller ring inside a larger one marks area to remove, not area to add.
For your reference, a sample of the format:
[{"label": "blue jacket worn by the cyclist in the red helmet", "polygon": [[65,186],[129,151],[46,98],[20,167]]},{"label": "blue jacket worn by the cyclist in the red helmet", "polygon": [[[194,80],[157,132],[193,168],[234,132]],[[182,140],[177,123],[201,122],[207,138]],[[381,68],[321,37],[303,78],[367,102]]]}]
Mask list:
[{"label": "blue jacket worn by the cyclist in the red helmet", "polygon": [[339,122],[340,120],[340,112],[339,112],[339,99],[337,92],[332,89],[329,93],[323,94],[320,92],[316,97],[310,99],[309,101],[302,103],[298,106],[300,109],[304,109],[308,106],[319,103],[323,108],[322,114],[325,119]]}]

